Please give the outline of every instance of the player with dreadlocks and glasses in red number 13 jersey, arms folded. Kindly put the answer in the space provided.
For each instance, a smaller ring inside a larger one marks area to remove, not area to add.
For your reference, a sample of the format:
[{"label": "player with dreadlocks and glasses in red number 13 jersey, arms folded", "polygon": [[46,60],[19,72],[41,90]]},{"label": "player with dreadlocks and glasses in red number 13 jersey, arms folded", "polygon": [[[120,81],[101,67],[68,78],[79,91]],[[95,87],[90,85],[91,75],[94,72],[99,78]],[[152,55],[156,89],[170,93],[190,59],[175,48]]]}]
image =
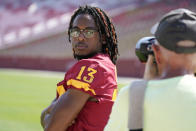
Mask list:
[{"label": "player with dreadlocks and glasses in red number 13 jersey, arms folded", "polygon": [[85,6],[71,17],[68,35],[78,62],[42,112],[42,126],[45,131],[102,131],[117,95],[115,28],[103,10]]}]

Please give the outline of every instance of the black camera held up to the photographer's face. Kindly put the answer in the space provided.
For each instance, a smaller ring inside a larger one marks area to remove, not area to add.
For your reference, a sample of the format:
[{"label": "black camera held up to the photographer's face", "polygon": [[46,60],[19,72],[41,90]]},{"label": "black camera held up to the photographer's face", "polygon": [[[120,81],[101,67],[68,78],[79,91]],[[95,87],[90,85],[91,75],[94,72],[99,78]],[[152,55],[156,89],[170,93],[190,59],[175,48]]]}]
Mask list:
[{"label": "black camera held up to the photographer's face", "polygon": [[153,53],[152,44],[155,43],[155,37],[143,37],[141,38],[135,47],[135,54],[142,63],[146,63],[148,60],[148,55]]}]

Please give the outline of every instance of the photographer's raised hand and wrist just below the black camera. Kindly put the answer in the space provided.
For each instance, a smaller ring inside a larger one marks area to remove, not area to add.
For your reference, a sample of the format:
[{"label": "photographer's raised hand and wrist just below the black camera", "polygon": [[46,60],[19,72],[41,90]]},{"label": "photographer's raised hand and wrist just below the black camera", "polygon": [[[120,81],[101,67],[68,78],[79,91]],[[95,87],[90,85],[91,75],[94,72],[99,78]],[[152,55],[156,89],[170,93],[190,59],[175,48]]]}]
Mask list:
[{"label": "photographer's raised hand and wrist just below the black camera", "polygon": [[145,71],[144,71],[144,79],[152,80],[159,77],[157,63],[153,55],[148,56],[148,60],[146,62]]}]

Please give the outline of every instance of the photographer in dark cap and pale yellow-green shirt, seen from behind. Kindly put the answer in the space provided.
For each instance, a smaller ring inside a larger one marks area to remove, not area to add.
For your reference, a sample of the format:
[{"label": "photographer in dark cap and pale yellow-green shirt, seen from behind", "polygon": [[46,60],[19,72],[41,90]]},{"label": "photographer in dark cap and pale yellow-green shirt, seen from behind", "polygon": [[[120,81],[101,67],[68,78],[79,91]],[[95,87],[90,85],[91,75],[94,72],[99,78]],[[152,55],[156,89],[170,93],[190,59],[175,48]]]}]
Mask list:
[{"label": "photographer in dark cap and pale yellow-green shirt, seen from behind", "polygon": [[[136,81],[124,88],[112,109],[111,116],[118,110],[116,103],[129,101],[126,110],[129,117],[125,121],[128,125],[123,125],[124,129],[127,126],[130,131],[196,130],[195,27],[196,13],[187,9],[173,10],[158,23],[157,41],[152,46],[157,67],[150,55],[145,72],[146,79],[156,80]],[[150,68],[158,68],[158,72]],[[113,125],[112,120],[105,131],[117,131],[121,126]]]}]

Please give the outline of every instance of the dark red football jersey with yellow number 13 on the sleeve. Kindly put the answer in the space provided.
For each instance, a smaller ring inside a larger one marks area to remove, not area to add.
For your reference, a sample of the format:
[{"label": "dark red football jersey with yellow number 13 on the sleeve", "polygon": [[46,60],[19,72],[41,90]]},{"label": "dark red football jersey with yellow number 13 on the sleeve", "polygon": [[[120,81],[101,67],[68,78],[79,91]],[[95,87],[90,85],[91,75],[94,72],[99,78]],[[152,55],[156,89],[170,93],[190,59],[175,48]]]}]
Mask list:
[{"label": "dark red football jersey with yellow number 13 on the sleeve", "polygon": [[90,94],[98,102],[87,101],[68,131],[103,131],[117,96],[116,67],[106,54],[78,61],[57,85],[57,98],[69,88]]}]

